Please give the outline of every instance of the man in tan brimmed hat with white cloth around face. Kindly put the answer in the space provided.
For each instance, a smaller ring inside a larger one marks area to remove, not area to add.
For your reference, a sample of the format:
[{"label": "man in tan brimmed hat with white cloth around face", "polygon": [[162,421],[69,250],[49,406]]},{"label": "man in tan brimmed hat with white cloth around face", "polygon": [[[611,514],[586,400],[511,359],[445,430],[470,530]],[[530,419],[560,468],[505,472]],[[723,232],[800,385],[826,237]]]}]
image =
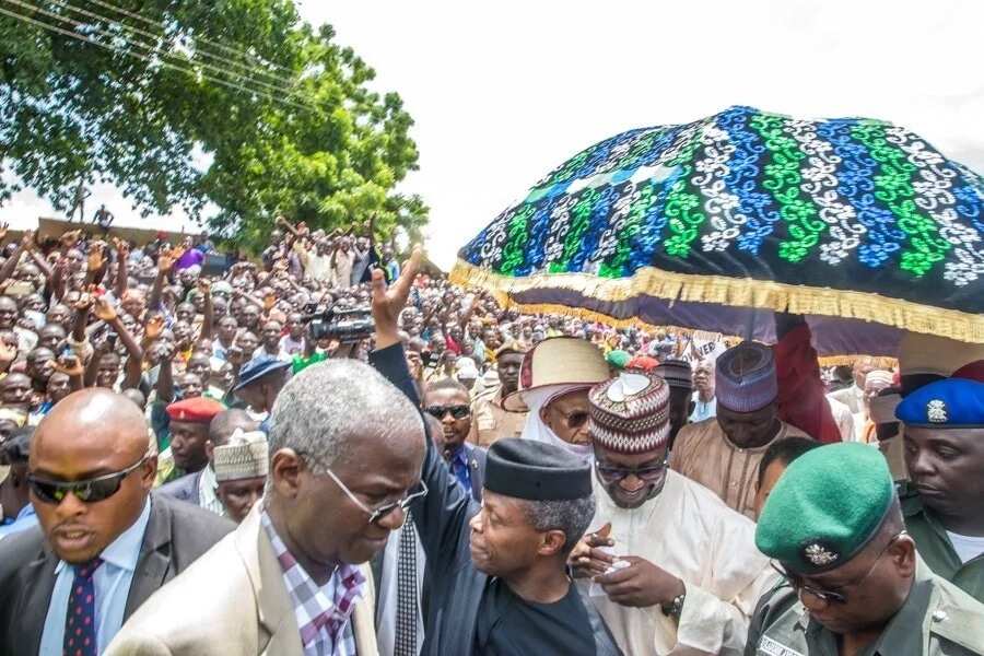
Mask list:
[{"label": "man in tan brimmed hat with white cloth around face", "polygon": [[526,354],[519,371],[519,389],[503,405],[506,410],[529,410],[520,437],[555,444],[590,460],[587,395],[608,377],[608,363],[595,344],[555,337]]}]

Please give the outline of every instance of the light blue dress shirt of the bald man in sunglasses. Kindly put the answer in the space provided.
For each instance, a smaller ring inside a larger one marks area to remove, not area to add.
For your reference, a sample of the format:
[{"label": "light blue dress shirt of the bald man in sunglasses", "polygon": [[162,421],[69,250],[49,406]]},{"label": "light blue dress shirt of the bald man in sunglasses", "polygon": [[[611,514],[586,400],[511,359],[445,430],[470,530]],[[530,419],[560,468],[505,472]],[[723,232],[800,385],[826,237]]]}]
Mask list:
[{"label": "light blue dress shirt of the bald man in sunglasses", "polygon": [[[148,522],[150,522],[150,499],[147,500],[137,522],[99,554],[103,564],[92,577],[95,586],[96,643],[99,653],[109,646],[109,642],[122,625],[127,597],[130,596],[130,583],[133,581]],[[68,598],[72,590],[72,581],[75,578],[75,567],[65,561],[58,561],[55,575],[55,590],[48,604],[39,656],[61,656],[65,643],[65,616],[68,612]]]}]

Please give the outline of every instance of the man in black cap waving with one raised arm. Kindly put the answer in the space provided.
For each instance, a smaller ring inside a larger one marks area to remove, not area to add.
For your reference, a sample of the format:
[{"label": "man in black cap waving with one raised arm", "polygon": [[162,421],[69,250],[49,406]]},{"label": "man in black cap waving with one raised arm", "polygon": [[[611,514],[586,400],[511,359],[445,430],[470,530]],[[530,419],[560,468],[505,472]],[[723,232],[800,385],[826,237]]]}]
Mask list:
[{"label": "man in black cap waving with one raised arm", "polygon": [[[373,285],[383,284],[382,271],[374,271]],[[388,326],[387,316],[374,312],[380,348],[370,359],[419,407],[402,347],[382,338],[396,335],[399,313],[391,314]],[[590,465],[557,445],[500,440],[489,449],[479,506],[433,441],[426,448],[421,479],[429,493],[410,512],[429,572],[440,574],[430,582],[421,653],[620,654],[566,570],[595,512]],[[408,623],[415,624],[415,611],[414,604],[405,613]]]}]

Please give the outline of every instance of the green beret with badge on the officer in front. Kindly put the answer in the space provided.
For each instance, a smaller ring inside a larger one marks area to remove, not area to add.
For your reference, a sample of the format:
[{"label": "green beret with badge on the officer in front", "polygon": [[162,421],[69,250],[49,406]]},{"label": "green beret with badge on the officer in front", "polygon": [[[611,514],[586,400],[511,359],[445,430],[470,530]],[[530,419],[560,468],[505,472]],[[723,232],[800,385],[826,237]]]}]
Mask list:
[{"label": "green beret with badge on the officer in front", "polygon": [[875,537],[894,496],[877,448],[859,443],[815,448],[794,460],[772,489],[755,546],[806,576],[840,567]]}]

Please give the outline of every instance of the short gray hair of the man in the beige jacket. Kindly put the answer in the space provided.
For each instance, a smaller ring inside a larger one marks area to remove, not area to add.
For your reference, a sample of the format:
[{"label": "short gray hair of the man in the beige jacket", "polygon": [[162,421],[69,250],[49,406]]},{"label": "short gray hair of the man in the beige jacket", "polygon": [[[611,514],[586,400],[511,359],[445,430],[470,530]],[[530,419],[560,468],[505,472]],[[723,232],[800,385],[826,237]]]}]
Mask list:
[{"label": "short gray hair of the man in the beige jacket", "polygon": [[344,460],[350,445],[366,435],[388,443],[414,433],[423,440],[413,405],[356,360],[315,364],[291,378],[277,396],[270,423],[270,455],[282,448],[309,455],[313,471]]}]

